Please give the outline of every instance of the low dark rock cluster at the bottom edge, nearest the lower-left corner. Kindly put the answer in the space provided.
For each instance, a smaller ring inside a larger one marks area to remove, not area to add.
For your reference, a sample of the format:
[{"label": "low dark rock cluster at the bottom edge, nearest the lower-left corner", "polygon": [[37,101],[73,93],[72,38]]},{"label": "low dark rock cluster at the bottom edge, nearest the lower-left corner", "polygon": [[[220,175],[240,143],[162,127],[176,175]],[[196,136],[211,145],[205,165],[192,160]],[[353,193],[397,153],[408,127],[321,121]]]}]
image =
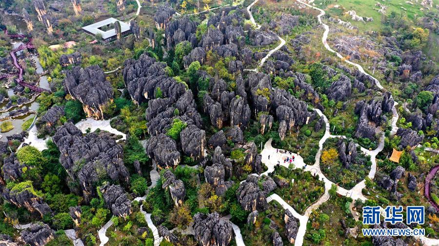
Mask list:
[{"label": "low dark rock cluster at the bottom edge, nearest the lower-left corner", "polygon": [[30,246],[42,246],[54,239],[55,233],[48,225],[37,223],[22,230],[20,236]]}]

